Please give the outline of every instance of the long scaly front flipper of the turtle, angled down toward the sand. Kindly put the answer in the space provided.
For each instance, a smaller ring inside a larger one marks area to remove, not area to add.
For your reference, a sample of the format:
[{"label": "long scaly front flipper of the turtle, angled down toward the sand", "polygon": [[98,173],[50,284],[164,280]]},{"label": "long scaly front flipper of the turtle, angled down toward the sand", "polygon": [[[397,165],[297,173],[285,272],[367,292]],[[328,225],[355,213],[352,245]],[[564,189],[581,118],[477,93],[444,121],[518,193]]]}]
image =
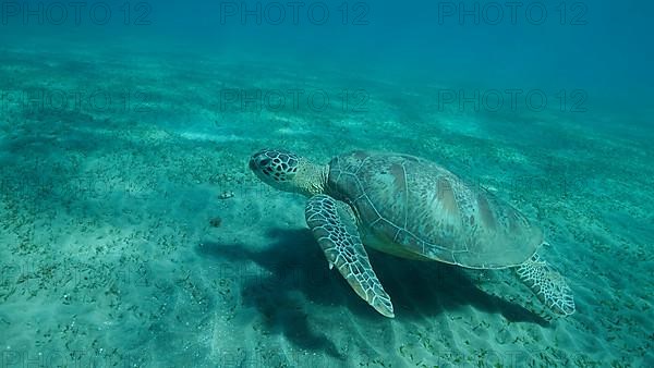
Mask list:
[{"label": "long scaly front flipper of the turtle, angled down toward the sand", "polygon": [[354,292],[378,312],[395,317],[390,297],[382,287],[361,243],[350,207],[320,194],[308,199],[304,213],[329,268],[336,266]]}]

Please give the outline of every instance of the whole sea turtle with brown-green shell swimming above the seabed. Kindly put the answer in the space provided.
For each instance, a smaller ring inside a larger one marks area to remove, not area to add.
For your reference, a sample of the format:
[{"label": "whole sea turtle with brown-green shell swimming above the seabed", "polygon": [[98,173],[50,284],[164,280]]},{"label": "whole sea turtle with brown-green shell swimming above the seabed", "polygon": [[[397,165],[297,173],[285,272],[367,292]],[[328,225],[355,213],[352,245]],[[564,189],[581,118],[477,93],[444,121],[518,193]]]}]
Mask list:
[{"label": "whole sea turtle with brown-green shell swimming above the seabed", "polygon": [[574,312],[565,279],[538,256],[542,231],[511,205],[428,160],[353,151],[319,165],[263,149],[250,169],[275,188],[308,198],[306,223],[334,266],[373,308],[393,317],[364,244],[395,256],[470,269],[512,268],[550,310]]}]

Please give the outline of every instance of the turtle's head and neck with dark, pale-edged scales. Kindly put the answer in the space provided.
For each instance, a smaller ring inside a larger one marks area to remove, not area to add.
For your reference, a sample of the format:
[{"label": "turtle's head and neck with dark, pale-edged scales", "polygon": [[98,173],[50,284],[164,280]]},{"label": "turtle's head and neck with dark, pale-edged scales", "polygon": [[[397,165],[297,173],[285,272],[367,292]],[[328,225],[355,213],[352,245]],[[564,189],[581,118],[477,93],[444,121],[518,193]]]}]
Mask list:
[{"label": "turtle's head and neck with dark, pale-edged scales", "polygon": [[250,170],[274,188],[314,195],[323,192],[325,168],[283,149],[262,149],[250,158]]}]

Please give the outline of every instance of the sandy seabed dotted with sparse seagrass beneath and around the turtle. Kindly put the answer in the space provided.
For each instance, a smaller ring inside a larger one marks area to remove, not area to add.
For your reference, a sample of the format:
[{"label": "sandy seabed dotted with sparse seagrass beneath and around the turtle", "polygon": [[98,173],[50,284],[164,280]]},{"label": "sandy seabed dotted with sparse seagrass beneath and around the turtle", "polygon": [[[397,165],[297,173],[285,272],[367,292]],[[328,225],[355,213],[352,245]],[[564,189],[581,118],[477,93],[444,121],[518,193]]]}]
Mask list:
[{"label": "sandy seabed dotted with sparse seagrass beneath and around the turtle", "polygon": [[[7,366],[654,365],[652,132],[604,130],[618,112],[461,112],[435,86],[221,58],[0,54]],[[330,103],[292,106],[295,89]],[[249,172],[262,147],[451,168],[542,224],[577,314],[543,318],[501,271],[371,250],[396,307],[377,315],[328,270],[305,199]]]}]

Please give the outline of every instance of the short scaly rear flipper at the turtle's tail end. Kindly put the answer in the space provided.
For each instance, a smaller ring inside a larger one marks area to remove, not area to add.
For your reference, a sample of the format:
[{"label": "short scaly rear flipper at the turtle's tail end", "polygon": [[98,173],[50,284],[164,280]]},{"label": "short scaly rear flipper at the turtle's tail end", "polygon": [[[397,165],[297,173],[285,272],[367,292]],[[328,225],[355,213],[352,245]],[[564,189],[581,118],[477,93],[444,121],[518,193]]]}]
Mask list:
[{"label": "short scaly rear flipper at the turtle's tail end", "polygon": [[574,298],[570,286],[538,254],[520,265],[516,273],[554,312],[562,316],[574,312]]}]

